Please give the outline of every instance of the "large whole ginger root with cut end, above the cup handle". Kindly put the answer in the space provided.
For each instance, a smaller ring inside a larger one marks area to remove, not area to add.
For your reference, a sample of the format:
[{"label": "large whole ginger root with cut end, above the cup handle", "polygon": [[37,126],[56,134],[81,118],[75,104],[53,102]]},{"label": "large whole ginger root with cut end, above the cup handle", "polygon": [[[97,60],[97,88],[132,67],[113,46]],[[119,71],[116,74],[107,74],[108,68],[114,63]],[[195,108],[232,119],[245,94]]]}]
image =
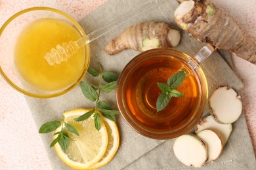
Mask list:
[{"label": "large whole ginger root with cut end, above the cup handle", "polygon": [[183,1],[175,10],[175,22],[199,41],[230,50],[256,64],[255,42],[246,38],[234,19],[213,4]]}]

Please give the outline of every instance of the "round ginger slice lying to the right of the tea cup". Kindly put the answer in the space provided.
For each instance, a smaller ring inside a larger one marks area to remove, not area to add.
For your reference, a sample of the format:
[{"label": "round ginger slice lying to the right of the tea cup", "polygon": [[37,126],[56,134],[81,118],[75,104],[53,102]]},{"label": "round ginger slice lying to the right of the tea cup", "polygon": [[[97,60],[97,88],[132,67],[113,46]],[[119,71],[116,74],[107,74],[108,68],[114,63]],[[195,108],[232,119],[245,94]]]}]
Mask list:
[{"label": "round ginger slice lying to the right of the tea cup", "polygon": [[241,97],[232,88],[220,86],[209,98],[209,109],[217,122],[232,124],[242,113]]}]

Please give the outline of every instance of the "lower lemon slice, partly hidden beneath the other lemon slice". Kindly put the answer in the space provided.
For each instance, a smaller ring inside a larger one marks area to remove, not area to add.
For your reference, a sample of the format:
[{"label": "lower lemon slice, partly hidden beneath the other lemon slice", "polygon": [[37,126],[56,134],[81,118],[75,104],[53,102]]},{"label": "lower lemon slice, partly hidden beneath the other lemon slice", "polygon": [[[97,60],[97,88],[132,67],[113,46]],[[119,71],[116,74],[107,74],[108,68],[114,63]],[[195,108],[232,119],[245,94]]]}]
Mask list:
[{"label": "lower lemon slice, partly hidden beneath the other lemon slice", "polygon": [[104,124],[108,132],[108,148],[101,160],[91,166],[90,169],[97,169],[106,165],[114,158],[119,148],[119,131],[116,122],[104,118]]}]

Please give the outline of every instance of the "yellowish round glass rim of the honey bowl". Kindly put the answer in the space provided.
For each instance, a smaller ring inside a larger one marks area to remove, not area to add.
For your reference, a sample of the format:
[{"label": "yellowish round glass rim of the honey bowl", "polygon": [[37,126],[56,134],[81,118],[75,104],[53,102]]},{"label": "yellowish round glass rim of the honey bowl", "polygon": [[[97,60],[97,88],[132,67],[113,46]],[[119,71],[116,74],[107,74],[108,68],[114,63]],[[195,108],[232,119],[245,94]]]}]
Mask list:
[{"label": "yellowish round glass rim of the honey bowl", "polygon": [[[61,10],[58,9],[54,9],[51,7],[31,7],[28,9],[24,9],[24,10],[20,10],[19,12],[16,12],[15,14],[13,14],[1,27],[0,27],[0,38],[1,35],[3,33],[3,31],[5,31],[5,28],[7,27],[7,25],[9,25],[12,20],[14,20],[15,18],[17,18],[18,16],[26,13],[26,12],[32,12],[34,10],[47,10],[50,12],[55,12],[57,14],[60,14],[62,16],[64,16],[65,18],[67,18],[68,20],[70,20],[70,22],[72,22],[72,24],[75,25],[75,27],[77,28],[77,30],[79,31],[79,33],[81,34],[82,37],[85,37],[85,31],[83,30],[83,28],[81,27],[81,25],[71,16],[69,16],[68,14],[66,14],[65,12],[62,12]],[[51,98],[51,97],[57,97],[59,95],[62,95],[64,93],[70,92],[70,90],[72,90],[73,88],[75,88],[75,86],[77,86],[77,84],[79,84],[79,82],[83,79],[83,77],[85,76],[85,73],[87,73],[87,69],[89,67],[89,63],[91,60],[91,51],[90,51],[90,46],[89,44],[87,44],[85,46],[85,56],[88,54],[89,58],[88,58],[88,62],[85,63],[84,68],[83,68],[83,72],[81,73],[81,75],[79,76],[79,78],[74,82],[74,84],[72,84],[71,86],[69,86],[68,88],[60,91],[60,92],[55,92],[55,93],[49,93],[49,94],[37,94],[37,93],[32,93],[32,92],[28,92],[26,90],[23,90],[22,88],[16,86],[16,84],[14,84],[14,82],[12,82],[12,80],[10,78],[8,78],[8,76],[5,74],[5,72],[3,71],[3,69],[1,68],[0,65],[0,74],[2,75],[2,77],[5,79],[5,81],[15,90],[17,90],[20,93],[23,93],[24,95],[28,95],[30,97],[36,97],[36,98]]]}]

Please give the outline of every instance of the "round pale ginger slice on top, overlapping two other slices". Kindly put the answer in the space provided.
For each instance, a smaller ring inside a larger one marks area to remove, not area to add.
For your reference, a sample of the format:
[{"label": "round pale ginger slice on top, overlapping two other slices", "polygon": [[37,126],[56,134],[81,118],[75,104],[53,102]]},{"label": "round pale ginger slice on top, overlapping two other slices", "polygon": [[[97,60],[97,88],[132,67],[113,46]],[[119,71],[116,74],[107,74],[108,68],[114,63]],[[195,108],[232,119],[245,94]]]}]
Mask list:
[{"label": "round pale ginger slice on top, overlapping two other slices", "polygon": [[175,156],[184,165],[202,167],[207,160],[207,146],[198,136],[185,134],[173,144]]}]

